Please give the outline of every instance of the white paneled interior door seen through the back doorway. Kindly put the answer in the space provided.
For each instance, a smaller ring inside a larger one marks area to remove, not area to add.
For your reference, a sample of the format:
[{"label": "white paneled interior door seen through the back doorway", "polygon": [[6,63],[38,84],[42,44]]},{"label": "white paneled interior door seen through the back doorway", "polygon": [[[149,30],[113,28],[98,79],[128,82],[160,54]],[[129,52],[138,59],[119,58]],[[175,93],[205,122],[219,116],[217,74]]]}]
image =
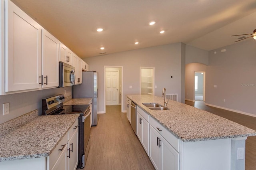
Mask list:
[{"label": "white paneled interior door seen through the back doorway", "polygon": [[106,105],[119,105],[119,71],[106,71]]}]

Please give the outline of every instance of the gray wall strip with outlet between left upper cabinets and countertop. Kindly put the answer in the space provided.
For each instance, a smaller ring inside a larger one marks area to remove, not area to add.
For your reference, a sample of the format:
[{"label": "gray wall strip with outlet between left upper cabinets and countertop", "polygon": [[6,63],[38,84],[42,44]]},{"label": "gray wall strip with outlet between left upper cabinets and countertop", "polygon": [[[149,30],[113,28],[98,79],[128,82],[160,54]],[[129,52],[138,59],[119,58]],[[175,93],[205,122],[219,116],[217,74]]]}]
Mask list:
[{"label": "gray wall strip with outlet between left upper cabinets and countertop", "polygon": [[[66,90],[66,94],[64,94],[64,90]],[[68,97],[72,95],[72,88],[54,88],[0,96],[0,124],[24,115],[35,109],[38,109],[39,115],[41,115],[42,98],[58,95],[60,93],[63,93],[65,97]],[[2,103],[10,103],[10,113],[8,115],[3,115]]]}]

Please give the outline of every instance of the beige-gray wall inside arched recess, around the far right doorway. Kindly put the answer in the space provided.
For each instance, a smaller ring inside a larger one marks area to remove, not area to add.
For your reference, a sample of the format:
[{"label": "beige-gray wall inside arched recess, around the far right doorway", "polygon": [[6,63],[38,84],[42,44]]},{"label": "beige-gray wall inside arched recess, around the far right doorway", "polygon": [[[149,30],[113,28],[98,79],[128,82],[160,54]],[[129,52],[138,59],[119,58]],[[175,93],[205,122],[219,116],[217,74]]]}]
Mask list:
[{"label": "beige-gray wall inside arched recess, around the far right doorway", "polygon": [[[194,72],[195,71],[206,71],[206,65],[201,63],[189,63],[186,64],[186,76],[185,76],[185,98],[186,100],[194,100]],[[206,73],[207,76],[207,73]],[[206,79],[207,81],[207,79]],[[207,89],[207,87],[206,87]],[[205,97],[207,94],[205,94]]]}]

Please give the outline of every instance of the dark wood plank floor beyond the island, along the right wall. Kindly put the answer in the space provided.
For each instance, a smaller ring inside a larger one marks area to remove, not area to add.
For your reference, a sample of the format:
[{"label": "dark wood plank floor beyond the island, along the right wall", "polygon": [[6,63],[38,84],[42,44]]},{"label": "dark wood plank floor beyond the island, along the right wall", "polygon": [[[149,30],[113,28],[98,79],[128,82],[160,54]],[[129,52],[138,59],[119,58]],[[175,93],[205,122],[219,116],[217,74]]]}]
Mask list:
[{"label": "dark wood plank floor beyond the island, along the right wall", "polygon": [[[187,105],[194,106],[196,108],[214,113],[233,122],[244,125],[248,128],[256,130],[256,117],[243,115],[240,113],[219,109],[216,107],[210,107],[204,105],[203,101],[186,101]],[[245,170],[256,170],[256,136],[250,136],[246,140],[245,144]]]}]

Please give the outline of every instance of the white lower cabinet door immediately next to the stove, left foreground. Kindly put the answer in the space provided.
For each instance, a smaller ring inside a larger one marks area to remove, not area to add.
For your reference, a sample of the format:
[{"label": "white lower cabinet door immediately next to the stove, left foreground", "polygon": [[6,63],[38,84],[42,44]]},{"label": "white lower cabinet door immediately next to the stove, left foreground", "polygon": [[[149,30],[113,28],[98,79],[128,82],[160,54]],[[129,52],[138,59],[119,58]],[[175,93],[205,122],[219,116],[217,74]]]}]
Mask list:
[{"label": "white lower cabinet door immediately next to the stove, left foreground", "polygon": [[[69,149],[68,150],[68,170],[76,170],[76,166],[78,165],[78,128],[74,135],[70,138]],[[69,156],[70,154],[70,156]]]}]

